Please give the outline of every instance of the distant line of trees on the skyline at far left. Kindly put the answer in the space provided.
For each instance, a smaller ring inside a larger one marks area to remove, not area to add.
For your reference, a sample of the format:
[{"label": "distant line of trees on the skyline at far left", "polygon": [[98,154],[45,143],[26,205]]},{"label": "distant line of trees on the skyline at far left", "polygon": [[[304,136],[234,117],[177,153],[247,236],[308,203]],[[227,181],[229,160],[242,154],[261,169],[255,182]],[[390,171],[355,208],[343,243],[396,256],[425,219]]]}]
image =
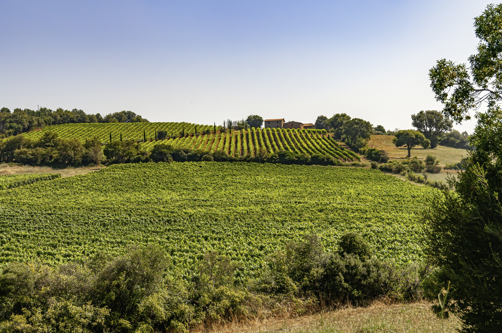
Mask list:
[{"label": "distant line of trees on the skyline at far left", "polygon": [[13,112],[3,107],[0,109],[0,137],[17,135],[49,125],[67,123],[96,123],[96,122],[149,122],[142,116],[132,111],[120,111],[109,113],[104,117],[101,114],[86,114],[83,110],[64,110],[62,108],[53,111],[46,107],[40,110],[16,108]]}]

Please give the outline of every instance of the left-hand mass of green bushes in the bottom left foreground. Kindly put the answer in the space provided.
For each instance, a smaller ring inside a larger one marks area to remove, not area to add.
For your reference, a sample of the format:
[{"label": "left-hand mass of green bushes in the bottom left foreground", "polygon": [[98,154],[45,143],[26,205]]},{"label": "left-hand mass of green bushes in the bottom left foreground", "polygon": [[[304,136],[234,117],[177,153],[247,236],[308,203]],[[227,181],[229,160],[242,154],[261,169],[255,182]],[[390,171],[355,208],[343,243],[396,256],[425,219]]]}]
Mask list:
[{"label": "left-hand mass of green bushes in the bottom left foreground", "polygon": [[83,264],[10,263],[0,274],[0,331],[187,331],[240,314],[228,257],[208,253],[183,279],[164,249],[130,247]]}]

